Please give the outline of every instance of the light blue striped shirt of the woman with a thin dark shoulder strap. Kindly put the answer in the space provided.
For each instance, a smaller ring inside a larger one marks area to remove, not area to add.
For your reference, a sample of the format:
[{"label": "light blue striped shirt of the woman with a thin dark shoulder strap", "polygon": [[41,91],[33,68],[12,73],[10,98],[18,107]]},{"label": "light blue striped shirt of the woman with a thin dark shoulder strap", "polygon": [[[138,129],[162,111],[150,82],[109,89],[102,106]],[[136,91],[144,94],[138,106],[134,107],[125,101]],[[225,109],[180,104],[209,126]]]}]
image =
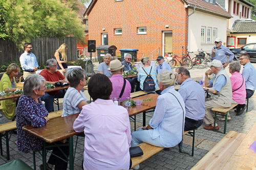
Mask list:
[{"label": "light blue striped shirt of the woman with a thin dark shoulder strap", "polygon": [[149,125],[154,128],[148,130],[151,138],[160,136],[161,145],[166,148],[177,145],[183,136],[185,114],[185,104],[180,93],[174,86],[164,89],[157,98],[156,110],[150,119]]}]

